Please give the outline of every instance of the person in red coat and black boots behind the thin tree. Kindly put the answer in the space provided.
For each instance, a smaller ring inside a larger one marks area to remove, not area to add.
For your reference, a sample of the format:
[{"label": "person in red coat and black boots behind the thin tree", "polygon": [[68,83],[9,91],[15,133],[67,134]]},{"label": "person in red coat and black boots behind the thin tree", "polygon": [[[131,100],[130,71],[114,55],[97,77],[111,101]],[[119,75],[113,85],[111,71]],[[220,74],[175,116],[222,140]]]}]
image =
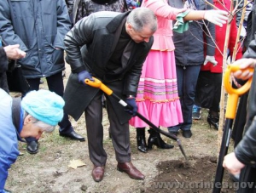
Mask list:
[{"label": "person in red coat and black boots behind the thin tree", "polygon": [[[229,0],[224,0],[223,2],[219,2],[218,0],[213,0],[214,5],[218,9],[222,10],[230,10],[231,2]],[[230,36],[228,48],[230,51],[230,56],[233,55],[234,48],[236,45],[236,36],[237,36],[237,27],[236,27],[236,16],[234,16],[233,20],[231,20],[230,24],[230,34],[226,34],[227,25],[223,27],[216,26],[216,37],[215,42],[217,48],[215,48],[215,59],[218,62],[217,65],[212,65],[212,63],[208,62],[206,65],[201,66],[201,71],[199,74],[199,79],[197,82],[196,89],[204,90],[205,92],[209,92],[206,94],[196,94],[195,105],[208,108],[208,116],[207,122],[209,126],[213,126],[214,129],[218,130],[218,119],[219,119],[219,102],[221,95],[221,84],[223,77],[223,52],[224,52],[224,42],[225,37]],[[236,53],[236,60],[241,59],[240,43],[238,45],[238,50]],[[205,102],[203,102],[205,101]],[[194,107],[194,111],[196,107]],[[197,110],[200,111],[200,110]],[[194,116],[195,117],[195,116]]]}]

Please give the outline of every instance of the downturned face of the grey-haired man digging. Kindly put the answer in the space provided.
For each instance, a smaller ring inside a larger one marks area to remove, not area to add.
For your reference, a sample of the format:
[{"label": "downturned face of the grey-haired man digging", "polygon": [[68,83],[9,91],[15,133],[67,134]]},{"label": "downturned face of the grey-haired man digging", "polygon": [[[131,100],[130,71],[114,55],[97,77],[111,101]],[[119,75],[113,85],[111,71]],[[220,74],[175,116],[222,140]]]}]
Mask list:
[{"label": "downturned face of the grey-haired man digging", "polygon": [[144,26],[142,31],[135,31],[130,23],[126,23],[126,31],[135,43],[148,43],[149,38],[154,34],[154,32],[150,30],[149,26]]}]

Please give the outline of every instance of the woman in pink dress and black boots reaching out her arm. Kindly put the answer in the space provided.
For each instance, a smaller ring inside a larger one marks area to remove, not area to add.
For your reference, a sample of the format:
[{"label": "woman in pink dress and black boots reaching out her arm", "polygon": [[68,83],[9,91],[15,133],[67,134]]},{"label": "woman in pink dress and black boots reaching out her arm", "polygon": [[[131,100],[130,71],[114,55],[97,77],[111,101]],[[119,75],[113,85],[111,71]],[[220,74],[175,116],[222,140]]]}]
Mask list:
[{"label": "woman in pink dress and black boots reaching out her arm", "polygon": [[[158,20],[158,30],[154,33],[154,44],[143,65],[142,76],[137,90],[138,112],[158,127],[170,127],[183,122],[183,114],[177,94],[177,75],[172,42],[172,20],[181,21],[185,28],[188,23],[183,20],[206,19],[219,26],[225,22],[227,12],[209,10],[196,11],[175,9],[167,0],[143,0],[142,6],[152,9]],[[182,30],[181,30],[182,31]],[[149,128],[148,146],[145,140],[145,128],[148,126],[137,116],[130,121],[137,128],[137,148],[146,153],[152,145],[161,149],[171,149],[156,133]]]}]

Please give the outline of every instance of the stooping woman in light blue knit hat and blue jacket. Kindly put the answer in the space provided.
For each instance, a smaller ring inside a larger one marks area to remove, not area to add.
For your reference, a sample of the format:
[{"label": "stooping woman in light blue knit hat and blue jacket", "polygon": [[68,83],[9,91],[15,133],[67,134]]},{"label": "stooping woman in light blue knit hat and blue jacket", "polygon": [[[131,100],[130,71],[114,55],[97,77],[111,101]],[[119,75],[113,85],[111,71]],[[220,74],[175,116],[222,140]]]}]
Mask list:
[{"label": "stooping woman in light blue knit hat and blue jacket", "polygon": [[0,192],[8,170],[20,155],[18,140],[54,131],[63,117],[64,100],[49,90],[31,91],[23,99],[12,98],[0,88]]}]

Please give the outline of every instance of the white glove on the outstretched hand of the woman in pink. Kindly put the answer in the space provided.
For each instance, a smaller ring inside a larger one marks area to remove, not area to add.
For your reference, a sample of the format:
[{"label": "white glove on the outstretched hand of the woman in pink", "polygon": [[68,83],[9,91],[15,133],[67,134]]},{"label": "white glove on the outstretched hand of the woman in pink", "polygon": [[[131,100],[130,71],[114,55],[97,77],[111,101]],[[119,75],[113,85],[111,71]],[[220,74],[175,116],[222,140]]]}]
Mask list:
[{"label": "white glove on the outstretched hand of the woman in pink", "polygon": [[210,21],[211,23],[222,27],[223,24],[228,20],[228,12],[224,10],[207,10],[204,15],[204,19]]}]

